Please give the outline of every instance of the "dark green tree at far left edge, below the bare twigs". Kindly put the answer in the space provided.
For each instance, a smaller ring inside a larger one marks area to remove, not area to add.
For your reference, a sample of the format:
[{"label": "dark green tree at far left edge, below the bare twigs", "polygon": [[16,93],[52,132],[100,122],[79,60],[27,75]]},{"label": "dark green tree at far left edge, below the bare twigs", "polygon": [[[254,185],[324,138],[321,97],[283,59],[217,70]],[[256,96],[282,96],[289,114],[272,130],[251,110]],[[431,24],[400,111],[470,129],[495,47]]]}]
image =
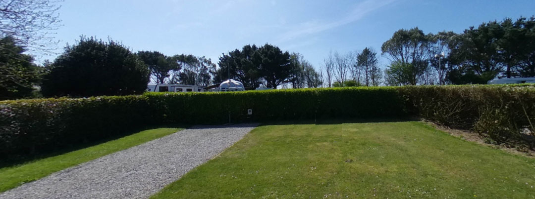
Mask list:
[{"label": "dark green tree at far left edge, below the bare twigs", "polygon": [[30,97],[40,80],[40,68],[12,37],[0,39],[0,100]]}]

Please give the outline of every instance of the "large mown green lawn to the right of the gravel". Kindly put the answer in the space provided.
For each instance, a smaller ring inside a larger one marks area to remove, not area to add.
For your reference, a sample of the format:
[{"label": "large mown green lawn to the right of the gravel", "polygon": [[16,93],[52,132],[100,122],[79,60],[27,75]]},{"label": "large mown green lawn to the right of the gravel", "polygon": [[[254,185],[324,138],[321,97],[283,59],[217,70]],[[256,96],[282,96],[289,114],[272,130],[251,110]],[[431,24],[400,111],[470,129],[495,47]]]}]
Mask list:
[{"label": "large mown green lawn to the right of the gravel", "polygon": [[534,198],[535,159],[421,122],[264,125],[155,198]]}]

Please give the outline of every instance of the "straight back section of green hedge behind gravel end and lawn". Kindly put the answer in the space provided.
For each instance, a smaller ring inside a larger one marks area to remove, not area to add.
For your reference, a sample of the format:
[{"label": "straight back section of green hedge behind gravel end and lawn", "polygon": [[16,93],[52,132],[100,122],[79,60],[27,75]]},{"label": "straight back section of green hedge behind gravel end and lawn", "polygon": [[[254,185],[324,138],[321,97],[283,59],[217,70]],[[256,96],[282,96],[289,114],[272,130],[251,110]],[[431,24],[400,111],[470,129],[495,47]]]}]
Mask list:
[{"label": "straight back section of green hedge behind gravel end and lawn", "polygon": [[[393,87],[348,87],[213,93],[147,93],[162,120],[186,123],[262,122],[404,115]],[[253,109],[253,115],[247,115]]]}]

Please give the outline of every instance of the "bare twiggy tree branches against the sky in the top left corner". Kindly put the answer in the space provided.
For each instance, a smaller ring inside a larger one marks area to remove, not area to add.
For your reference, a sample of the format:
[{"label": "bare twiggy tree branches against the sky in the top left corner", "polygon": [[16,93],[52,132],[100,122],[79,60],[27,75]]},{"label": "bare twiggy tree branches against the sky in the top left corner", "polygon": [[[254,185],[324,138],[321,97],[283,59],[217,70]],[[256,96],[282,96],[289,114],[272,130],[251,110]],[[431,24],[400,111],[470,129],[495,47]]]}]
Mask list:
[{"label": "bare twiggy tree branches against the sky in the top left corner", "polygon": [[[57,11],[61,1],[9,0],[0,1],[1,37],[10,36],[30,51],[50,52],[57,42],[53,31],[59,27]],[[52,45],[53,44],[53,45]]]}]

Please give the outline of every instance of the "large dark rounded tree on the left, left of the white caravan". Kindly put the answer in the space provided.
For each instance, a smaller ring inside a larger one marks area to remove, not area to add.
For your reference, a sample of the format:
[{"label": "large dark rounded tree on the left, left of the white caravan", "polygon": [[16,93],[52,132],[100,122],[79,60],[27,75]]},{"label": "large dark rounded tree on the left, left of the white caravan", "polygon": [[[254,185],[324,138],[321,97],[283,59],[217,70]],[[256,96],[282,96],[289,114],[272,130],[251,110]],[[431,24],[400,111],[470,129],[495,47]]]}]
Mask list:
[{"label": "large dark rounded tree on the left, left of the white caravan", "polygon": [[89,97],[141,94],[147,89],[149,69],[124,45],[81,37],[53,63],[43,78],[46,97]]}]

